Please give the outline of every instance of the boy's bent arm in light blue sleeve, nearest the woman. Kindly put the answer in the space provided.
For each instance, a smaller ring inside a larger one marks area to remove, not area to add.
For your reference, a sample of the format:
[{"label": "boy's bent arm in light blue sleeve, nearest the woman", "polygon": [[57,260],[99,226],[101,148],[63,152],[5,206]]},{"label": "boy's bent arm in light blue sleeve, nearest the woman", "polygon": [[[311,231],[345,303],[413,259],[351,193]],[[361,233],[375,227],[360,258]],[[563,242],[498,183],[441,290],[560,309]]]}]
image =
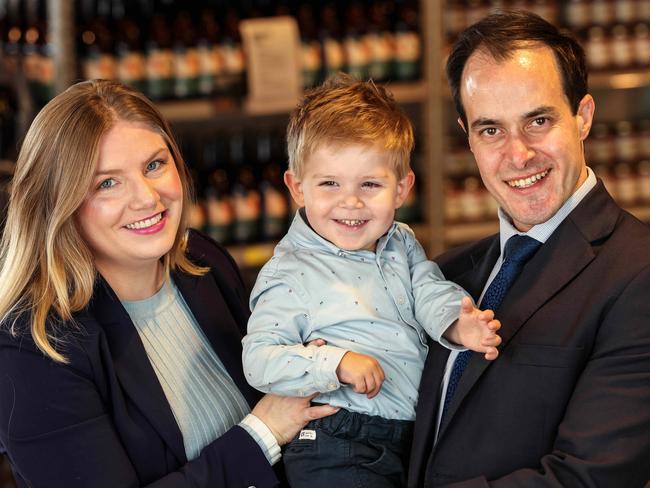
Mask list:
[{"label": "boy's bent arm in light blue sleeve, nearest the woman", "polygon": [[340,388],[336,368],[347,350],[305,345],[312,339],[307,299],[290,277],[258,277],[242,341],[244,373],[254,388],[287,396]]}]

